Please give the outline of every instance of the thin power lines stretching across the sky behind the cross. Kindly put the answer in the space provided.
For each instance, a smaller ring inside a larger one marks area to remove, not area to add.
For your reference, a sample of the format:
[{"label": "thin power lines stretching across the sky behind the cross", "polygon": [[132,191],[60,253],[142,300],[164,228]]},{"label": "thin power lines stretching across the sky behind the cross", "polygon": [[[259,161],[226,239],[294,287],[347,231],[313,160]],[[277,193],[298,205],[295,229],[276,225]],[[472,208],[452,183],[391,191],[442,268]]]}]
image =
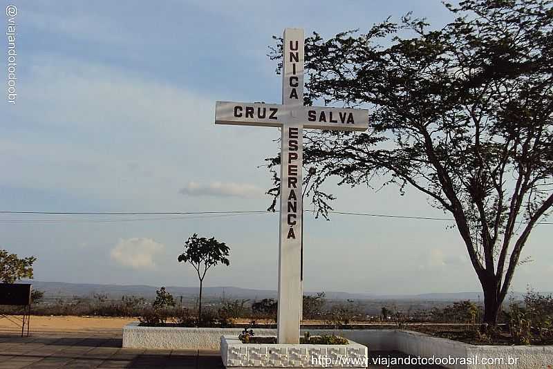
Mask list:
[{"label": "thin power lines stretching across the sky behind the cross", "polygon": [[[315,210],[305,210],[315,212]],[[349,216],[371,216],[376,218],[414,219],[414,220],[440,220],[453,221],[452,218],[435,218],[428,216],[398,216],[389,214],[355,213],[348,211],[328,211],[329,214]],[[0,211],[0,214],[19,215],[95,215],[95,216],[145,216],[145,215],[182,215],[181,217],[163,218],[131,218],[131,219],[0,219],[0,223],[56,223],[56,222],[77,222],[77,223],[117,223],[135,222],[144,220],[182,220],[194,218],[218,218],[224,216],[245,216],[254,214],[274,214],[274,211],[138,211],[138,212],[93,212],[93,211]],[[519,222],[527,223],[527,222]],[[540,222],[538,225],[552,225],[553,223]]]}]

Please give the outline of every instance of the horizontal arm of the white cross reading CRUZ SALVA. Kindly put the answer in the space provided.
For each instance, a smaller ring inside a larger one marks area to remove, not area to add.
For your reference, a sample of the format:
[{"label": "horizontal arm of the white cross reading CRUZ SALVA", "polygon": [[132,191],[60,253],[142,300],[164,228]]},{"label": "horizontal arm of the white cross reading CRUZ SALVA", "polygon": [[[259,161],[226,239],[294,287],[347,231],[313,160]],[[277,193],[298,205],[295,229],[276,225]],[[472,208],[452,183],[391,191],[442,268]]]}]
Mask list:
[{"label": "horizontal arm of the white cross reading CRUZ SALVA", "polygon": [[270,126],[301,124],[306,129],[366,131],[368,110],[328,106],[292,106],[259,102],[216,102],[215,124]]}]

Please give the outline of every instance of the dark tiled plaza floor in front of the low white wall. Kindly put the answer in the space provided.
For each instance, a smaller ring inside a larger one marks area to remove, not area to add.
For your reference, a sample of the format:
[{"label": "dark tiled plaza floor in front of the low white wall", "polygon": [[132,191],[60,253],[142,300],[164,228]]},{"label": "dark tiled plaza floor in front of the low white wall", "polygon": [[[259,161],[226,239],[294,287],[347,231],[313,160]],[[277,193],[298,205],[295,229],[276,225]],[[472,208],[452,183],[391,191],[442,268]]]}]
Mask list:
[{"label": "dark tiled plaza floor in front of the low white wall", "polygon": [[[224,368],[218,351],[142,350],[121,348],[119,331],[94,333],[41,332],[31,337],[0,334],[0,369],[18,368]],[[371,357],[402,357],[401,352],[370,352]],[[371,368],[386,368],[375,366]],[[392,368],[439,368],[392,366]]]}]

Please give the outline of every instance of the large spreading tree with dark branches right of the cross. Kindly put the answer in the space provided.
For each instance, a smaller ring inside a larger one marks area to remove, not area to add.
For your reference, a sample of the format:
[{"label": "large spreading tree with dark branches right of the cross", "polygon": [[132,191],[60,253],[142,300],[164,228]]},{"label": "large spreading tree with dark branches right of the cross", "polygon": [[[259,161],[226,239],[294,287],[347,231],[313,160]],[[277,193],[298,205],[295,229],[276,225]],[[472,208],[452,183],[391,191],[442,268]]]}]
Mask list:
[{"label": "large spreading tree with dark branches right of the cross", "polygon": [[[306,39],[305,103],[371,115],[366,133],[306,131],[303,164],[317,174],[305,181],[324,216],[334,196],[321,185],[332,177],[425,193],[453,217],[494,326],[528,237],[553,205],[552,1],[446,6],[455,20],[440,30],[406,15]],[[270,56],[280,53],[277,42]],[[268,162],[278,196],[280,158]]]}]

